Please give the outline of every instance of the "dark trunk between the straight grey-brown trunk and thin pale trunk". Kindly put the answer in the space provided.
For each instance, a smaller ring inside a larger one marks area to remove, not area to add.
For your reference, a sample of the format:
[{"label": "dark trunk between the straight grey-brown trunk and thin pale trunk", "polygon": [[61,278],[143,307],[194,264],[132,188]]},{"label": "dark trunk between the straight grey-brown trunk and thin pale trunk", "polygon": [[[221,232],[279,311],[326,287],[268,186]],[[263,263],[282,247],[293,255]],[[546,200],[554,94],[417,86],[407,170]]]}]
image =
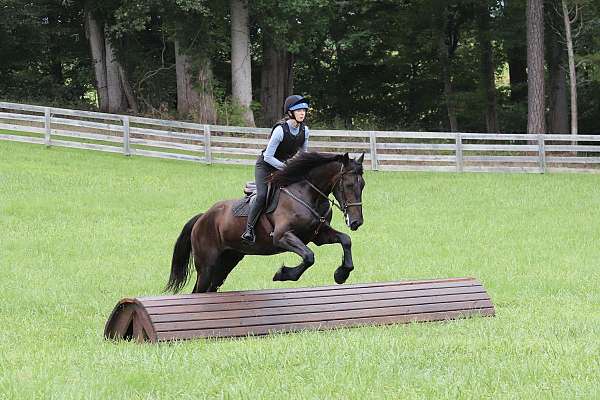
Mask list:
[{"label": "dark trunk between the straight grey-brown trunk and thin pale trunk", "polygon": [[547,41],[549,46],[548,88],[550,90],[548,132],[565,134],[569,133],[569,116],[567,115],[567,81],[563,69],[565,58],[561,40],[561,35],[553,34]]}]

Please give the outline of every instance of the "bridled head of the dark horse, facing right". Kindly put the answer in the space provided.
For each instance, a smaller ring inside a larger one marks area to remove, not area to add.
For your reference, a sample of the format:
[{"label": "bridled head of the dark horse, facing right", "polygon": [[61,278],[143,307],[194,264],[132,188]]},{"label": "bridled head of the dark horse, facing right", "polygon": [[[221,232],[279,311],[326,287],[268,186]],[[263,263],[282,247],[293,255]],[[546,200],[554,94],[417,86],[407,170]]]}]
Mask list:
[{"label": "bridled head of the dark horse, facing right", "polygon": [[362,163],[365,155],[351,159],[344,154],[342,167],[333,187],[333,195],[344,212],[346,225],[355,231],[363,224],[362,191],[365,188]]}]

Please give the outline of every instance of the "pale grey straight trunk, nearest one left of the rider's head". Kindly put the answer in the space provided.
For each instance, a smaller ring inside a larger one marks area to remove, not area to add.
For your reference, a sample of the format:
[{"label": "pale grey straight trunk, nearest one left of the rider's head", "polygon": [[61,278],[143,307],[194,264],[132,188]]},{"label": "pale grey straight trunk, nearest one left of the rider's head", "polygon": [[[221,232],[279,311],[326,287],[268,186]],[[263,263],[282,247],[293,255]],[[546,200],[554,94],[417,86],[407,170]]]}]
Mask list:
[{"label": "pale grey straight trunk, nearest one left of the rider's head", "polygon": [[247,126],[254,126],[248,0],[231,0],[231,91]]}]

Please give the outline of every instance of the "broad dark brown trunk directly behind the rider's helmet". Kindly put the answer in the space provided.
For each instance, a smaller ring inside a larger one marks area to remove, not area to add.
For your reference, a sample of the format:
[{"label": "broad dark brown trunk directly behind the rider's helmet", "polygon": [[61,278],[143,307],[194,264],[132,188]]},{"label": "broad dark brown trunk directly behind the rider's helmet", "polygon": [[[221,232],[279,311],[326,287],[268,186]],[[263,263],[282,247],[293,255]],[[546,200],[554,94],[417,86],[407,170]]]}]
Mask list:
[{"label": "broad dark brown trunk directly behind the rider's helmet", "polygon": [[275,48],[265,32],[260,75],[260,104],[265,126],[273,126],[283,115],[283,102],[292,93],[292,64],[292,55],[287,50]]}]

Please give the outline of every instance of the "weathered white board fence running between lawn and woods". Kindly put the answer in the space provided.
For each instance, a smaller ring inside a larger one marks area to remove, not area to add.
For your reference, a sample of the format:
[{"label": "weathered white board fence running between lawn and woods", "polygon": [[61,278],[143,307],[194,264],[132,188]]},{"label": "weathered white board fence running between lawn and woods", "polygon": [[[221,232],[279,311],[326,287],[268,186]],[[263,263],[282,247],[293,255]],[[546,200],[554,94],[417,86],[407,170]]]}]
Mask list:
[{"label": "weathered white board fence running between lawn and woods", "polygon": [[[253,164],[270,129],[205,125],[0,102],[0,140]],[[600,135],[310,131],[310,148],[365,153],[374,170],[600,172]]]}]

